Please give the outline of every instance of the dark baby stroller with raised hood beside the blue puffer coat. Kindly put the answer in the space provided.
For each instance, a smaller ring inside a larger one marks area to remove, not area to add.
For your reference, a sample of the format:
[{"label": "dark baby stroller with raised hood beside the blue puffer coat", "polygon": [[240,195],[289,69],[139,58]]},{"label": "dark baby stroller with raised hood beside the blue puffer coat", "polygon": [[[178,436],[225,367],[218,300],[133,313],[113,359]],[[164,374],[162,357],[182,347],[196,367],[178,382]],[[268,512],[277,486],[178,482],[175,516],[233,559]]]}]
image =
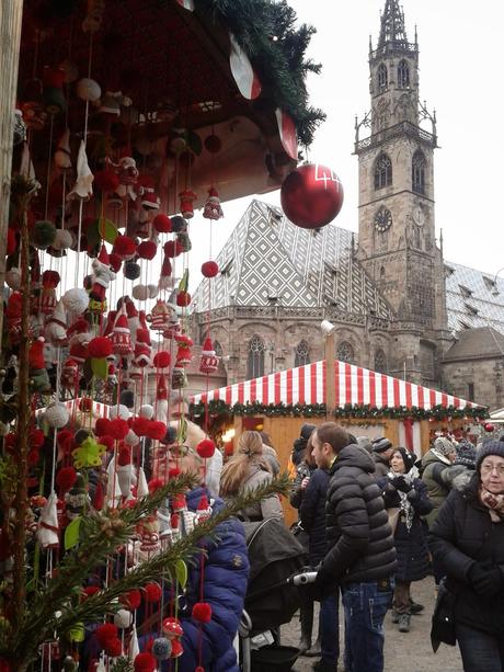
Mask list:
[{"label": "dark baby stroller with raised hood beside the blue puffer coat", "polygon": [[280,646],[279,626],[289,623],[300,605],[299,589],[291,578],[305,567],[305,549],[278,519],[243,525],[250,577],[239,628],[241,669],[287,672],[299,649]]}]

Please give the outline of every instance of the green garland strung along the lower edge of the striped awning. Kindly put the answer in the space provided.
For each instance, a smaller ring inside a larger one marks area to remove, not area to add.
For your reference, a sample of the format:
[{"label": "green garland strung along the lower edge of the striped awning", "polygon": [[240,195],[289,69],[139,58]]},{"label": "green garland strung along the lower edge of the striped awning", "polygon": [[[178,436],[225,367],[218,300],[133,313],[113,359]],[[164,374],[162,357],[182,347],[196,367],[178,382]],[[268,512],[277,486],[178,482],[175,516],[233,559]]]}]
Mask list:
[{"label": "green garland strung along the lower edge of the striped awning", "polygon": [[[208,402],[208,412],[211,415],[266,415],[267,418],[323,418],[325,415],[325,403],[234,403],[230,406],[221,399]],[[191,413],[194,418],[205,414],[203,402],[193,403]],[[344,407],[335,408],[334,418],[355,418],[355,419],[380,419],[392,418],[402,420],[442,420],[446,421],[454,418],[468,418],[470,420],[484,420],[489,418],[486,408],[456,408],[455,406],[435,406],[432,409],[423,409],[416,406],[406,408],[405,406],[377,408],[369,405],[346,403]]]}]

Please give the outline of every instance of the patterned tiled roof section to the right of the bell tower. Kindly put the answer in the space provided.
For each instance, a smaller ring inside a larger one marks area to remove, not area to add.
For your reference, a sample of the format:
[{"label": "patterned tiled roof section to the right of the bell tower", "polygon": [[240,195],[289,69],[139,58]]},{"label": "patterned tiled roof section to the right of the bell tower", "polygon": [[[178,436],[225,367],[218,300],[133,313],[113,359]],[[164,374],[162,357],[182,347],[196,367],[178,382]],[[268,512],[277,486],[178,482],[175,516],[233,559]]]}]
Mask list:
[{"label": "patterned tiled roof section to the right of the bell tower", "polygon": [[493,327],[504,333],[504,278],[445,262],[448,328]]}]

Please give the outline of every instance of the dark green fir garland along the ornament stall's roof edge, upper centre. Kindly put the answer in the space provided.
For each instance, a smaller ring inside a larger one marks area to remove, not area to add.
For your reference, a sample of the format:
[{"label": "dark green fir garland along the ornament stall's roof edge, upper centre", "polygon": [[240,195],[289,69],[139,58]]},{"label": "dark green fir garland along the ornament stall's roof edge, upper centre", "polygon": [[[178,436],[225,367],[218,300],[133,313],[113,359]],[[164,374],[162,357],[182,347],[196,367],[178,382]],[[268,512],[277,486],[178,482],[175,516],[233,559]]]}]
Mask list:
[{"label": "dark green fir garland along the ornament stall's roof edge, upper centre", "polygon": [[309,105],[305,83],[308,72],[321,69],[305,58],[314,27],[295,27],[296,12],[286,0],[196,0],[195,4],[204,18],[226,25],[250,57],[263,87],[257,104],[268,101],[287,112],[300,144],[309,146],[325,119],[322,110]]}]

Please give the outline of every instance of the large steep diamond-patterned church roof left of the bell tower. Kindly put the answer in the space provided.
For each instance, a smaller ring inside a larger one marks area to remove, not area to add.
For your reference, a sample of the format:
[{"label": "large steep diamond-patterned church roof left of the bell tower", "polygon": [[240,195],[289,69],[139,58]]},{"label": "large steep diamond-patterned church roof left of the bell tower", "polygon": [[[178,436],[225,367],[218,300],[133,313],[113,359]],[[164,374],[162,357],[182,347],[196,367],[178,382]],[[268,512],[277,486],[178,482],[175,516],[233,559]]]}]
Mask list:
[{"label": "large steep diamond-patterned church roof left of the bell tower", "polygon": [[[296,227],[279,208],[252,202],[217,258],[221,273],[211,285],[211,308],[335,305],[346,312],[391,309],[358,262],[352,232],[335,226],[314,232]],[[195,310],[208,308],[208,281],[195,293]]]}]

